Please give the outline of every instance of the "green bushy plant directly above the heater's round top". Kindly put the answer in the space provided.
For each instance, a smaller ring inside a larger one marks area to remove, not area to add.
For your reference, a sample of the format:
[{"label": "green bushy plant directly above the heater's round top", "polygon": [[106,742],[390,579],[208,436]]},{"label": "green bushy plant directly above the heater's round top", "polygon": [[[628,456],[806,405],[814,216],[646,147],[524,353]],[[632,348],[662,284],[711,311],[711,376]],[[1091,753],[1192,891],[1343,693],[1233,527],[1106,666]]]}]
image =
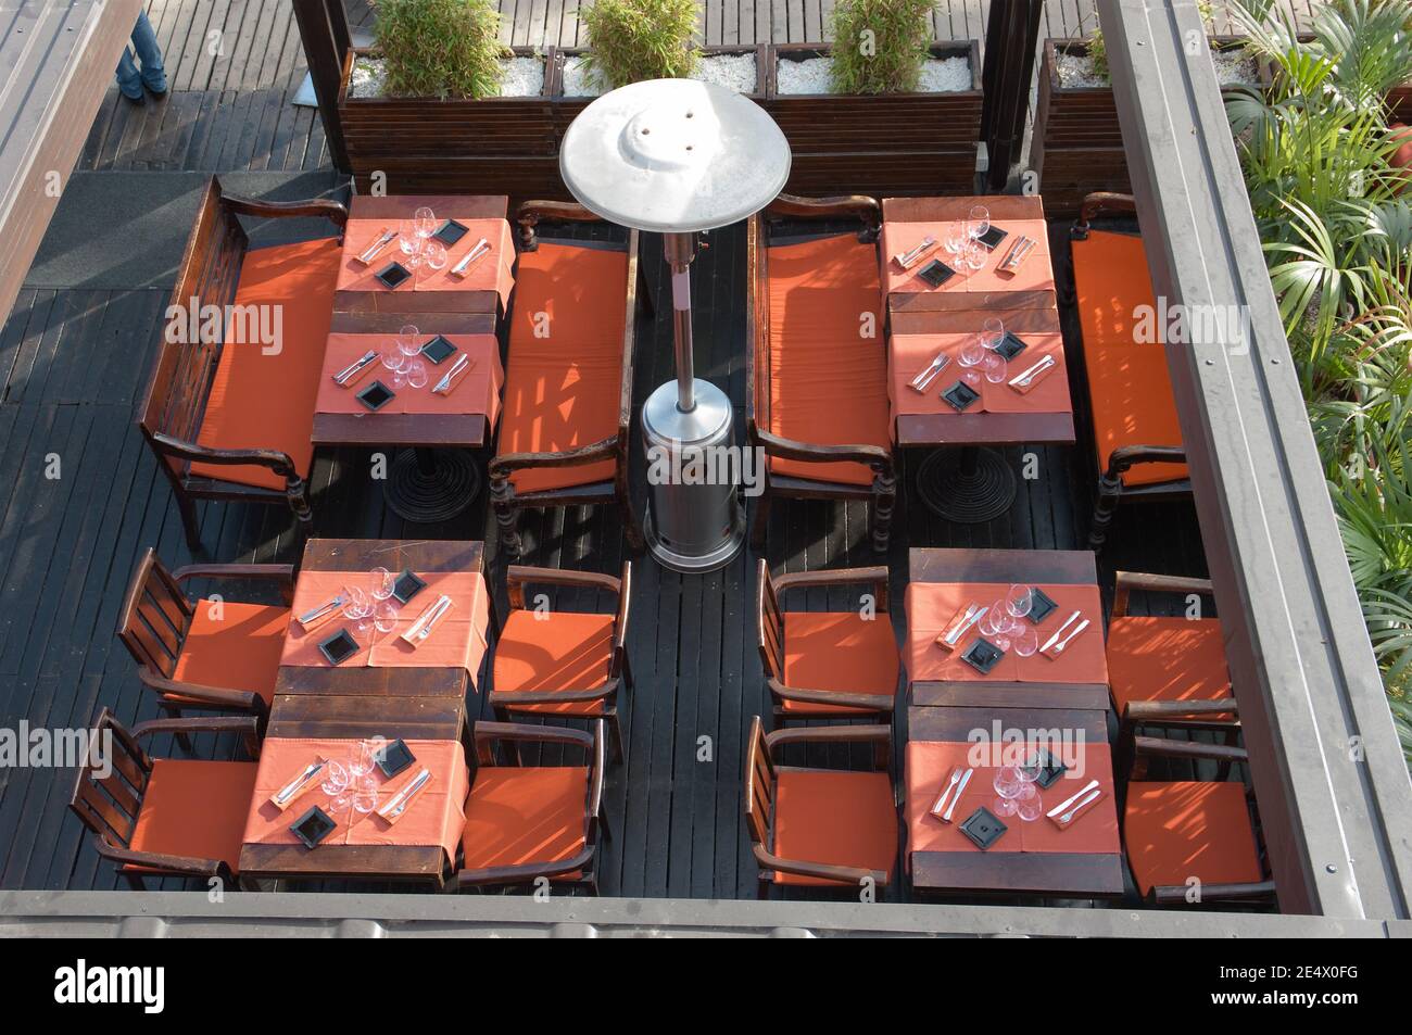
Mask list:
[{"label": "green bushy plant directly above the heater's round top", "polygon": [[696,0],[593,0],[579,18],[589,32],[585,64],[600,88],[682,79],[700,58]]}]

